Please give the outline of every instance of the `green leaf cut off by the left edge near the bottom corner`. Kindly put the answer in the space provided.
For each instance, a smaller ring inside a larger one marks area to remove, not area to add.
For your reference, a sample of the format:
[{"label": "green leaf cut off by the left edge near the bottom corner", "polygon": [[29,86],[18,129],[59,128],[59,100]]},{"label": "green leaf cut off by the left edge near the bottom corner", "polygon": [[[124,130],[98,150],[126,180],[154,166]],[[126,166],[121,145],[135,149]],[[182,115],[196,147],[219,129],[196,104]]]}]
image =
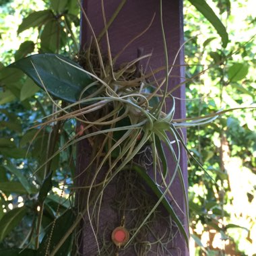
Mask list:
[{"label": "green leaf cut off by the left edge near the bottom corner", "polygon": [[7,212],[0,220],[0,241],[18,226],[26,214],[26,207],[15,208]]}]

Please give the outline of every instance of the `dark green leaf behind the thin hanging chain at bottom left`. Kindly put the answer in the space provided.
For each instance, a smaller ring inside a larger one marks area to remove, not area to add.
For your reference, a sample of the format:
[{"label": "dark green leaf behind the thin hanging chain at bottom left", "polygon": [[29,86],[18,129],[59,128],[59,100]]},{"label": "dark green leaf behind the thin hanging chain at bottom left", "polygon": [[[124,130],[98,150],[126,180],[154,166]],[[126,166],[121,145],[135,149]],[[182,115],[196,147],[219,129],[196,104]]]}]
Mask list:
[{"label": "dark green leaf behind the thin hanging chain at bottom left", "polygon": [[[42,243],[40,243],[38,249],[37,256],[44,256],[46,255],[46,248],[48,247],[49,238],[51,236],[51,243],[49,244],[49,252],[53,253],[53,249],[59,244],[62,240],[63,236],[72,226],[75,220],[75,215],[73,214],[73,209],[67,210],[65,214],[57,218],[55,222],[55,227],[53,228],[53,234],[51,235],[51,227],[46,232],[44,238],[42,239]],[[64,256],[68,255],[69,249],[71,247],[71,235],[69,235],[59,250],[55,253],[55,256]]]}]

